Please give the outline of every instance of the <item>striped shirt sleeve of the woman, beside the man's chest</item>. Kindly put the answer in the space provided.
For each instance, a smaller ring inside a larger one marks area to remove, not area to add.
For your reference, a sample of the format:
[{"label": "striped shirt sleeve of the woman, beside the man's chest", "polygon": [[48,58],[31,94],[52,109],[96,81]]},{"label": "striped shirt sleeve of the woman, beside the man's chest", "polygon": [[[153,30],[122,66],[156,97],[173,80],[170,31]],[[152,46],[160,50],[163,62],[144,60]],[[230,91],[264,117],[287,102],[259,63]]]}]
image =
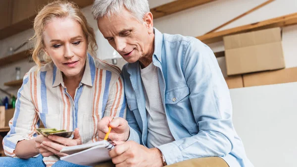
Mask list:
[{"label": "striped shirt sleeve of the woman, beside the man's chest", "polygon": [[114,82],[110,82],[108,100],[106,103],[104,116],[114,116],[126,118],[126,98],[124,82],[121,76]]}]

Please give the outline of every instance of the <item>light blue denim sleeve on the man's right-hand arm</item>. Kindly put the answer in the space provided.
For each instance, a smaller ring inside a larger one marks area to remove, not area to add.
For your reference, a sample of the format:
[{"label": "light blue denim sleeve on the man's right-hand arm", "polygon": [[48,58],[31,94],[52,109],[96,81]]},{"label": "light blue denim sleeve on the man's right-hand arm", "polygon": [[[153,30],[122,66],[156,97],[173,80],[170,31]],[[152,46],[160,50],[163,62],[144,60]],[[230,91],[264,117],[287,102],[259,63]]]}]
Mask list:
[{"label": "light blue denim sleeve on the man's right-hand arm", "polygon": [[157,148],[168,165],[192,158],[228,155],[234,140],[231,98],[213,52],[200,41],[192,41],[182,69],[199,132]]}]

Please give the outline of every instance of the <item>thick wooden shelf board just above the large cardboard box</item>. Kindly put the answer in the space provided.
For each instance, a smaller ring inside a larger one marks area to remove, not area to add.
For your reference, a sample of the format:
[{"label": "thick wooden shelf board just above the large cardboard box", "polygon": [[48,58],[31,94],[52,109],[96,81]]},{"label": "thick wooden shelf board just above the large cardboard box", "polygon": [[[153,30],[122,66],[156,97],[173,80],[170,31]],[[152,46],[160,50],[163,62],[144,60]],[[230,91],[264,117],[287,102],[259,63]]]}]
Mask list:
[{"label": "thick wooden shelf board just above the large cardboard box", "polygon": [[239,34],[239,33],[262,30],[267,28],[274,28],[274,27],[286,27],[294,24],[297,24],[297,13],[288,14],[285,16],[276,17],[273,19],[260,21],[257,23],[247,24],[244,26],[235,27],[228,30],[209,33],[196,38],[205,44],[210,44],[210,43],[222,41],[223,37],[227,35]]}]

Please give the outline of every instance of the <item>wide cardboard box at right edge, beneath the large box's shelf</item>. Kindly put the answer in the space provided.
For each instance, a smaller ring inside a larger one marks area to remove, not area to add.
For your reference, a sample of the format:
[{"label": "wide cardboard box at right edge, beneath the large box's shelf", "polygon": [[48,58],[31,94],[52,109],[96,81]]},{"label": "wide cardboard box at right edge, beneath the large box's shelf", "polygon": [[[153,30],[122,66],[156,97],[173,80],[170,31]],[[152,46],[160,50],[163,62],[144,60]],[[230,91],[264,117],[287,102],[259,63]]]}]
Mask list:
[{"label": "wide cardboard box at right edge, beneath the large box's shelf", "polygon": [[297,67],[243,75],[245,87],[297,82]]}]

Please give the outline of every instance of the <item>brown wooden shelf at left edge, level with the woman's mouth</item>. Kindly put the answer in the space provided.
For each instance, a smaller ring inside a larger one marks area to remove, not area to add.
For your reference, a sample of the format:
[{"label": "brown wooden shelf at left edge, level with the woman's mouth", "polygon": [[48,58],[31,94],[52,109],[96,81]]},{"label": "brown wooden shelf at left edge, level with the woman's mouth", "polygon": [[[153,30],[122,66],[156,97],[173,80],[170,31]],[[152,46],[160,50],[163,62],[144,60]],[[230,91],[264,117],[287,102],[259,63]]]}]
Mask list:
[{"label": "brown wooden shelf at left edge, level with the woman's mouth", "polygon": [[26,59],[30,57],[30,51],[26,50],[26,51],[22,51],[10,56],[5,56],[5,57],[1,57],[0,58],[0,66],[4,66],[7,64],[11,64],[13,62],[22,60],[22,59]]}]

